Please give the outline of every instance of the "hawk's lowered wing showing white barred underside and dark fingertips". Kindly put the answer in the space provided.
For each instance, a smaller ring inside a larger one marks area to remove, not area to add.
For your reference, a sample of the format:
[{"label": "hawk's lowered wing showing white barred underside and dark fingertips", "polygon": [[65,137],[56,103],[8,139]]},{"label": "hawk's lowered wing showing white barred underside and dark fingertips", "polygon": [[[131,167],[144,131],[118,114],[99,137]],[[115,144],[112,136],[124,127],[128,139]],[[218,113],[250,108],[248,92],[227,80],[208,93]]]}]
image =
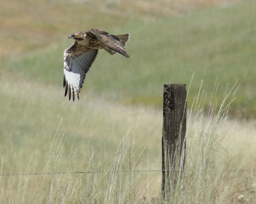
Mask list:
[{"label": "hawk's lowered wing showing white barred underside and dark fingertips", "polygon": [[98,49],[89,49],[75,42],[64,51],[64,81],[65,96],[68,93],[69,101],[71,94],[75,101],[75,93],[79,100],[80,89],[83,86],[84,78],[91,67]]}]

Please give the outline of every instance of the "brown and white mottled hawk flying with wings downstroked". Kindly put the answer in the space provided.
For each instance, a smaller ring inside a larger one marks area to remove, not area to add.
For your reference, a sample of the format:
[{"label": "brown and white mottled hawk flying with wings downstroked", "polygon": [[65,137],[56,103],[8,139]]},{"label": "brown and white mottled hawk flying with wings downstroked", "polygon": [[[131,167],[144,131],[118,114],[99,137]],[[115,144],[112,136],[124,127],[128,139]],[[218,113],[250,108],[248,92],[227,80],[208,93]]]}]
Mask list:
[{"label": "brown and white mottled hawk flying with wings downstroked", "polygon": [[75,101],[75,93],[79,100],[80,89],[84,78],[91,67],[99,49],[105,49],[110,55],[116,52],[129,57],[124,49],[130,34],[112,35],[100,29],[91,29],[73,33],[68,38],[75,40],[74,44],[64,51],[64,81],[65,96],[71,94]]}]

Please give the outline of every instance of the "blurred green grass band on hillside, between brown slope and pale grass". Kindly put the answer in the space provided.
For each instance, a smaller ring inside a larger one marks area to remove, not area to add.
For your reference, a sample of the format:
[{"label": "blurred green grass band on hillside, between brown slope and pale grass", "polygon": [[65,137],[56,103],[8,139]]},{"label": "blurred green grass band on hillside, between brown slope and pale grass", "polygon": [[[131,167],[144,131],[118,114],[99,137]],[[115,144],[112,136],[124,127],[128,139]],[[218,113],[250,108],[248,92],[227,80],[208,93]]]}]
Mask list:
[{"label": "blurred green grass band on hillside, between brown slope and pale grass", "polygon": [[[81,97],[90,91],[125,104],[162,106],[164,83],[188,84],[194,73],[188,105],[201,80],[209,92],[218,76],[219,89],[238,79],[240,90],[230,112],[254,117],[255,2],[212,8],[181,17],[153,21],[131,20],[111,33],[131,33],[125,59],[100,50],[86,76]],[[236,15],[234,15],[234,13]],[[9,60],[3,68],[46,84],[62,84],[62,53],[73,41]],[[219,101],[222,96],[218,95]]]}]

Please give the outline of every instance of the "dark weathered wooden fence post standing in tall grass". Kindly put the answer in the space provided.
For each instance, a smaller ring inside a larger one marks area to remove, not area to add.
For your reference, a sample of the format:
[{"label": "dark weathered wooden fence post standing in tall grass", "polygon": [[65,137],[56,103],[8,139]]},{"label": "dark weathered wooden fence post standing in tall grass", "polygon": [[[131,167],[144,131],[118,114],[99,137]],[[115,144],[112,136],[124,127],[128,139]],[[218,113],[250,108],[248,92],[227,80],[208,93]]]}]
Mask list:
[{"label": "dark weathered wooden fence post standing in tall grass", "polygon": [[186,84],[164,84],[162,192],[165,198],[181,178],[185,164]]}]

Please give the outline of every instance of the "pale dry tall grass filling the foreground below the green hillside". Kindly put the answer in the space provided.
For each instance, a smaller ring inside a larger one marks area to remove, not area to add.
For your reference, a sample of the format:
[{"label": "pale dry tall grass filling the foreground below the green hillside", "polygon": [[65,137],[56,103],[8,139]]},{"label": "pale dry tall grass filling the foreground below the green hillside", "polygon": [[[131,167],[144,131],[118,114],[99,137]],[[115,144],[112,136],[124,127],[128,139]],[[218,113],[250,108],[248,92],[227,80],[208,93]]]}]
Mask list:
[{"label": "pale dry tall grass filling the foreground below the green hillside", "polygon": [[[62,89],[22,77],[2,76],[0,86],[1,174],[161,169],[162,111],[90,93],[69,103]],[[226,117],[235,88],[229,97],[223,93],[220,111],[217,88],[206,113],[203,91],[195,97],[186,172],[172,203],[255,202],[255,172],[227,171],[255,169],[256,159],[255,124]],[[2,203],[163,202],[161,172],[1,176],[0,182]]]}]

